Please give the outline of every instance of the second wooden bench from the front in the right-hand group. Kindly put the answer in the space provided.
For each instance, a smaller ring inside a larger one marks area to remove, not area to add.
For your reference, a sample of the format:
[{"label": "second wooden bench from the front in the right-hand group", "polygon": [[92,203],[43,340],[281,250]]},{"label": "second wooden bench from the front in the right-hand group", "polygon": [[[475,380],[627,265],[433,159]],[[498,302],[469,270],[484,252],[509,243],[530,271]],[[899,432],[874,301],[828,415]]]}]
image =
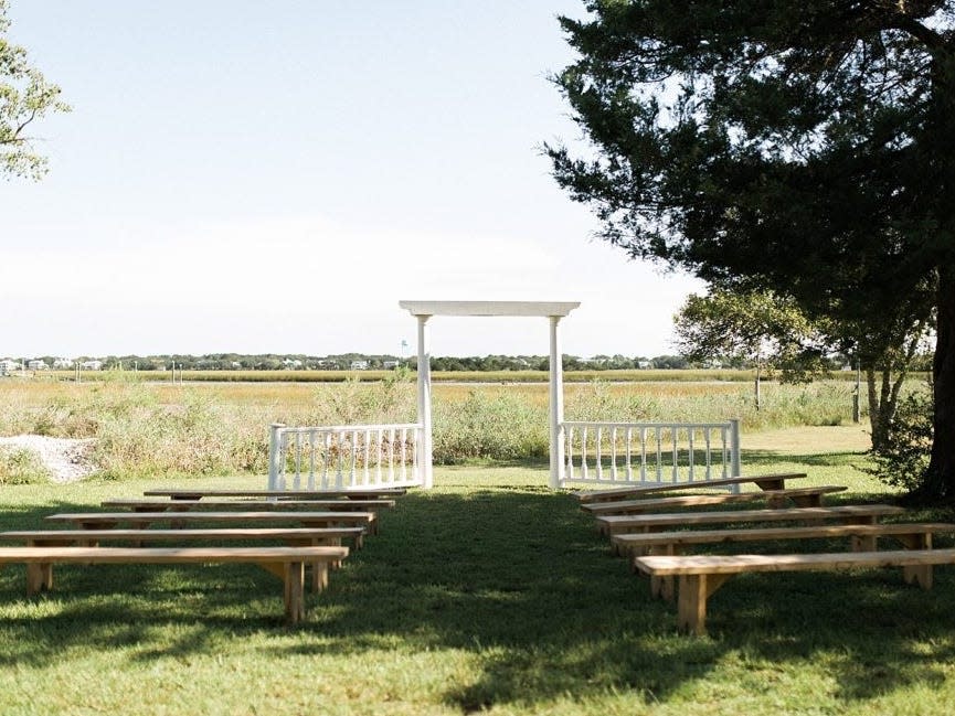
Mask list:
[{"label": "second wooden bench from the front in the right-hand group", "polygon": [[[686,547],[691,545],[849,537],[849,548],[852,552],[876,552],[879,537],[892,537],[906,549],[931,549],[932,536],[936,533],[946,532],[955,532],[955,524],[943,522],[900,522],[868,525],[816,525],[811,527],[683,530],[680,532],[620,534],[612,537],[612,541],[618,553],[629,555],[630,567],[636,571],[636,560],[645,554],[680,555]],[[650,594],[655,597],[672,599],[673,578],[651,577]]]}]

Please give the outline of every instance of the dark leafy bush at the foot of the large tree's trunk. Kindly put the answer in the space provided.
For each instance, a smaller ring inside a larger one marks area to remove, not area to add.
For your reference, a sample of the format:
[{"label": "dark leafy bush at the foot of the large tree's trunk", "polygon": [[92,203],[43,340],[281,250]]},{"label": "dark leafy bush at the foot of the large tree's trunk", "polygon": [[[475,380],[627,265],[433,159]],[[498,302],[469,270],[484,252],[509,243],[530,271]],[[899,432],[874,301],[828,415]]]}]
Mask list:
[{"label": "dark leafy bush at the foot of the large tree's trunk", "polygon": [[879,480],[908,492],[922,485],[932,450],[933,408],[931,391],[911,393],[899,402],[884,447],[872,450],[876,467],[870,472]]}]

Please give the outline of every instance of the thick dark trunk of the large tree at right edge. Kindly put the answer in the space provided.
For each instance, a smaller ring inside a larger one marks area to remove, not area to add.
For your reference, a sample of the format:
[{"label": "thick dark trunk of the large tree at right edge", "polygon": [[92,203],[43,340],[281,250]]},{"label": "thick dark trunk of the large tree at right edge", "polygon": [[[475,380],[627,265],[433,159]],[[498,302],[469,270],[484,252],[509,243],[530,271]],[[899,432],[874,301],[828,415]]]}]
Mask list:
[{"label": "thick dark trunk of the large tree at right edge", "polygon": [[932,458],[916,496],[927,502],[955,500],[955,267],[938,269],[938,324],[934,377],[935,414]]}]

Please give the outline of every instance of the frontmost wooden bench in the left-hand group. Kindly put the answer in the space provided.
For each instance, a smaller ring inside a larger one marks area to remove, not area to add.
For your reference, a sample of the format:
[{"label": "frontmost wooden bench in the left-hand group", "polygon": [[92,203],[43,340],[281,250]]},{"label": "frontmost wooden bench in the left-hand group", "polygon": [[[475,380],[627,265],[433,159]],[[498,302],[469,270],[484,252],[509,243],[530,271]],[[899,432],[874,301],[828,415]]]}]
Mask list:
[{"label": "frontmost wooden bench in the left-hand group", "polygon": [[348,547],[0,547],[0,565],[26,565],[26,594],[53,587],[54,564],[255,564],[285,585],[285,616],[290,624],[305,618],[305,565],[348,556]]}]

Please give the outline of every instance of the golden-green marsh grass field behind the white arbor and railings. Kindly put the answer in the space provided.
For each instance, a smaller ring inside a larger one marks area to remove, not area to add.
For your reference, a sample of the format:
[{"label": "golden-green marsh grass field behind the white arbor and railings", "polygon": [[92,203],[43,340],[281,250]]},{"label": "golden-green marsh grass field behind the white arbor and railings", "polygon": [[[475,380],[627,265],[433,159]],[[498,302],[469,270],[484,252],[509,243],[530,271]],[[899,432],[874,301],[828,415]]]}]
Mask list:
[{"label": "golden-green marsh grass field behind the white arbor and railings", "polygon": [[[749,382],[687,381],[681,372],[669,373],[680,380],[569,383],[565,417],[632,423],[740,418],[744,436],[851,420],[853,385],[846,381],[766,383],[756,409]],[[0,435],[95,438],[99,474],[118,480],[261,474],[273,423],[408,423],[416,414],[413,376],[394,373],[379,382],[331,384],[172,384],[142,382],[141,375],[118,373],[82,383],[2,378]],[[433,404],[439,464],[547,458],[545,384],[436,383]],[[3,475],[0,463],[0,483]]]}]

